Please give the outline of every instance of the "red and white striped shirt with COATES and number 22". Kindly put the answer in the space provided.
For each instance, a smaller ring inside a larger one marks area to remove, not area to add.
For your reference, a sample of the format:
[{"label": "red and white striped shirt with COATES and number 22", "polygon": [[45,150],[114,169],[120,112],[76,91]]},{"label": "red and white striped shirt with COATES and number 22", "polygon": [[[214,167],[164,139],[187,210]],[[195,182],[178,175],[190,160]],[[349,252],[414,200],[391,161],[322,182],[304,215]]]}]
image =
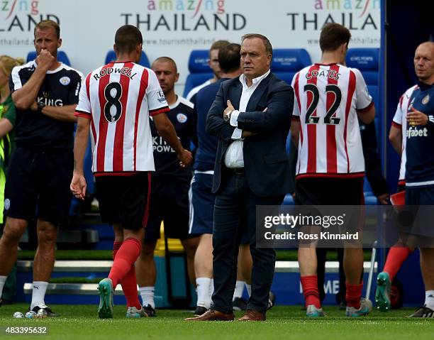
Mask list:
[{"label": "red and white striped shirt with COATES and number 22", "polygon": [[362,177],[357,111],[367,111],[373,103],[360,71],[314,64],[296,73],[291,85],[293,119],[301,123],[296,177]]}]

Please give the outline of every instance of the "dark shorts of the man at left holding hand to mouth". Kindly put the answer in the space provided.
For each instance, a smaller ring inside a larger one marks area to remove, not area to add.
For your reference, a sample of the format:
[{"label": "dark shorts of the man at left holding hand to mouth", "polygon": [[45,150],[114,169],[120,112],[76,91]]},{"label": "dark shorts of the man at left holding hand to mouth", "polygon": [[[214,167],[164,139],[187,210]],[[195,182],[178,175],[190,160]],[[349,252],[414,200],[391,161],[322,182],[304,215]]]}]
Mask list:
[{"label": "dark shorts of the man at left holding hand to mouth", "polygon": [[33,150],[17,146],[5,187],[6,216],[30,220],[37,216],[52,224],[66,221],[72,194],[72,150]]}]

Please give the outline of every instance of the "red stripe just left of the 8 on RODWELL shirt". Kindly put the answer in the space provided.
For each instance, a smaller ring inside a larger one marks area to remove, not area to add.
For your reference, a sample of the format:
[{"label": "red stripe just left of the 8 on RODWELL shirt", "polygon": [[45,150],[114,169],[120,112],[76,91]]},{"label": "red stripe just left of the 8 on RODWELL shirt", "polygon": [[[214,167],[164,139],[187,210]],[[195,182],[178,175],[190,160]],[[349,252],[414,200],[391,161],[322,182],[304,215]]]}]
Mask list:
[{"label": "red stripe just left of the 8 on RODWELL shirt", "polygon": [[[101,70],[106,70],[109,65],[104,65]],[[106,98],[104,97],[104,89],[110,82],[110,75],[106,75],[99,79],[98,99],[99,99],[99,136],[98,145],[96,146],[96,171],[104,172],[104,158],[106,156],[106,138],[107,128],[109,122],[104,116],[104,105],[106,104]]]}]

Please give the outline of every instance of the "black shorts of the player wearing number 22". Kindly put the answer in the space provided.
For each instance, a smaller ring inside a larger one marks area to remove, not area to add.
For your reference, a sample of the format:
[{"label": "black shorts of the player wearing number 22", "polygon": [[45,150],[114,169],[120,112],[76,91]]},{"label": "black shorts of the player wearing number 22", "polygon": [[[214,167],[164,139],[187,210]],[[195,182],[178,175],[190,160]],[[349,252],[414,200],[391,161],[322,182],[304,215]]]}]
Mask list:
[{"label": "black shorts of the player wearing number 22", "polygon": [[363,205],[363,177],[296,180],[296,205]]}]

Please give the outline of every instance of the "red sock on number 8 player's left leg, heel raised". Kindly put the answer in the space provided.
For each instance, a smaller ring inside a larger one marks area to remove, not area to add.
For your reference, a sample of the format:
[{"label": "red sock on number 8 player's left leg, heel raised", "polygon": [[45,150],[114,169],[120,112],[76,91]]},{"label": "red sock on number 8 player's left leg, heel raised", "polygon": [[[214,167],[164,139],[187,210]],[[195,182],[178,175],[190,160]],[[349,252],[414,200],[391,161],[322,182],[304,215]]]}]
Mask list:
[{"label": "red sock on number 8 player's left leg, heel raised", "polygon": [[113,290],[131,270],[131,265],[134,265],[139,257],[141,249],[142,243],[136,238],[126,238],[123,241],[121,248],[116,253],[116,258],[113,261],[109,274],[109,278],[113,282]]}]

